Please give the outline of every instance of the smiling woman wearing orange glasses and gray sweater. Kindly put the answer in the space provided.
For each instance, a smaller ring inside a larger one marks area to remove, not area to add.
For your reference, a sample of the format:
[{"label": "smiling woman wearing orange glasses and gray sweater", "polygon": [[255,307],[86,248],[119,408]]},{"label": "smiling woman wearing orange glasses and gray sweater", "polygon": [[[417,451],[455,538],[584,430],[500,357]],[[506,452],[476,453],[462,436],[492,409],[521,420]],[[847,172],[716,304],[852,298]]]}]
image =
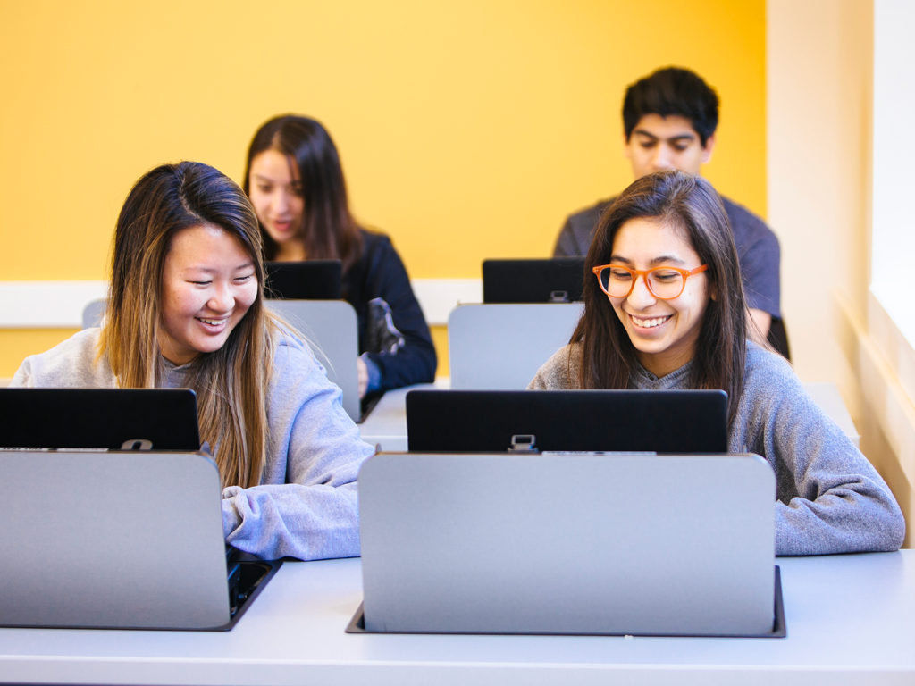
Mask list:
[{"label": "smiling woman wearing orange glasses and gray sweater", "polygon": [[727,391],[728,449],[775,471],[778,554],[899,548],[886,483],[788,363],[748,340],[737,250],[707,181],[633,183],[597,224],[586,273],[585,314],[530,388]]}]

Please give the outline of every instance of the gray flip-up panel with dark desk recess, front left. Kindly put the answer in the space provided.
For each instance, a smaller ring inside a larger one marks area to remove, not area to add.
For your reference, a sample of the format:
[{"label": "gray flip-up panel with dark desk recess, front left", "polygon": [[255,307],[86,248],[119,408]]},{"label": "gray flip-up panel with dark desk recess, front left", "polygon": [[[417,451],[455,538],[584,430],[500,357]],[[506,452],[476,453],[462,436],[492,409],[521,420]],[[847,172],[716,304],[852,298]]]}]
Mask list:
[{"label": "gray flip-up panel with dark desk recess, front left", "polygon": [[0,626],[225,630],[277,566],[227,567],[198,453],[3,449],[0,502]]}]

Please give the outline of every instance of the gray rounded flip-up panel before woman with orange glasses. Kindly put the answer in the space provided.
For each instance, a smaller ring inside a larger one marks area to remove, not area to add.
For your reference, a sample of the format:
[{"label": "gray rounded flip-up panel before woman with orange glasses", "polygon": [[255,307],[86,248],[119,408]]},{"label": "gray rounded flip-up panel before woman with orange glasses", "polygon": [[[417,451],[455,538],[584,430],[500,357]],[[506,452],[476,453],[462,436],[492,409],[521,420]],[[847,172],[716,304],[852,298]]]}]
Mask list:
[{"label": "gray rounded flip-up panel before woman with orange glasses", "polygon": [[351,631],[784,635],[759,456],[387,453],[359,490]]}]

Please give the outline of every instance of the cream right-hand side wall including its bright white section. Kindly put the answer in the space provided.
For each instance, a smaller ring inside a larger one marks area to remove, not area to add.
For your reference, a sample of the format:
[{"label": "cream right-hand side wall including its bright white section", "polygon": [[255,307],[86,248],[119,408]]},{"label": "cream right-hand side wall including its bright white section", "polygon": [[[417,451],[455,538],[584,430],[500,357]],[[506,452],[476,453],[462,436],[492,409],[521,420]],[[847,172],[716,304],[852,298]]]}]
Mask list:
[{"label": "cream right-hand side wall including its bright white section", "polygon": [[915,4],[878,0],[876,16],[864,0],[768,1],[769,220],[795,367],[839,385],[862,451],[910,522],[910,547],[915,349],[899,323],[909,325],[912,305],[902,295],[893,312],[875,293],[906,294],[908,284],[888,287],[885,277],[904,275],[915,252],[915,128],[906,121]]}]

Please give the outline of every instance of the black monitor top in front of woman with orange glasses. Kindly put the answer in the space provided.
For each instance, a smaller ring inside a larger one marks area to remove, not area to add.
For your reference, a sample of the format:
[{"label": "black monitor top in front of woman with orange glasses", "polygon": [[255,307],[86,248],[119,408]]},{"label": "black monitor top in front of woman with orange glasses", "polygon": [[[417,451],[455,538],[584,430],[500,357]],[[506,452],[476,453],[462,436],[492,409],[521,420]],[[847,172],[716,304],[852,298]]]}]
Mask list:
[{"label": "black monitor top in front of woman with orange glasses", "polygon": [[[725,391],[410,391],[414,451],[727,452]],[[521,443],[523,439],[518,439]]]}]

